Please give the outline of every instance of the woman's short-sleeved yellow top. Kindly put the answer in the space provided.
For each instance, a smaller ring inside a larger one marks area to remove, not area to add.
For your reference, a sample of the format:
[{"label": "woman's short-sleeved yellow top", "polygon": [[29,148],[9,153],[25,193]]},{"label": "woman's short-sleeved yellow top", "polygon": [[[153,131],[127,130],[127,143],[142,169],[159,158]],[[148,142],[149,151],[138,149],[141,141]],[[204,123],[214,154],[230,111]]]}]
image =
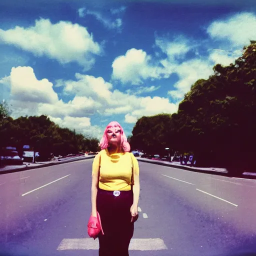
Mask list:
[{"label": "woman's short-sleeved yellow top", "polygon": [[108,191],[130,190],[132,161],[133,173],[138,174],[138,161],[132,153],[112,153],[103,149],[93,159],[92,174],[99,170],[98,187]]}]

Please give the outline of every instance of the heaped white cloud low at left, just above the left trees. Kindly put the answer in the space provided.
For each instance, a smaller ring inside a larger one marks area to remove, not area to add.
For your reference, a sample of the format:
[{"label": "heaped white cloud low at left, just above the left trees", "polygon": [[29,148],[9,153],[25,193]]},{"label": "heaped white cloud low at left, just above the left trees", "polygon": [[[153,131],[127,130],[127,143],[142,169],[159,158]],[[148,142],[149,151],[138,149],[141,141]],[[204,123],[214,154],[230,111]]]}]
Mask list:
[{"label": "heaped white cloud low at left, just above the left trees", "polygon": [[52,89],[52,83],[45,78],[37,80],[29,66],[13,67],[8,77],[0,79],[0,84],[3,83],[10,88],[8,97],[14,118],[40,114],[60,118],[84,117],[101,107],[100,103],[86,96],[74,96],[67,103],[63,102]]}]

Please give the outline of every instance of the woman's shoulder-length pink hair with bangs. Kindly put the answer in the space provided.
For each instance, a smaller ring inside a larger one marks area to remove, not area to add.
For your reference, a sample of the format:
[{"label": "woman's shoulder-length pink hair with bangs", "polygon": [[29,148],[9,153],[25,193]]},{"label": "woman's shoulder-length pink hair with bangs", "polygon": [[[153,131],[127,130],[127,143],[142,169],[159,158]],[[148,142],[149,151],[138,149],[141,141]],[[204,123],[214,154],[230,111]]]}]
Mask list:
[{"label": "woman's shoulder-length pink hair with bangs", "polygon": [[121,147],[122,147],[122,150],[124,152],[129,152],[130,144],[127,141],[127,137],[124,134],[122,126],[116,121],[111,121],[106,125],[103,136],[102,136],[102,138],[100,139],[100,142],[99,142],[99,146],[100,146],[101,150],[106,149],[108,147],[106,132],[107,132],[108,128],[113,128],[113,127],[119,127],[120,128],[120,130],[121,130]]}]

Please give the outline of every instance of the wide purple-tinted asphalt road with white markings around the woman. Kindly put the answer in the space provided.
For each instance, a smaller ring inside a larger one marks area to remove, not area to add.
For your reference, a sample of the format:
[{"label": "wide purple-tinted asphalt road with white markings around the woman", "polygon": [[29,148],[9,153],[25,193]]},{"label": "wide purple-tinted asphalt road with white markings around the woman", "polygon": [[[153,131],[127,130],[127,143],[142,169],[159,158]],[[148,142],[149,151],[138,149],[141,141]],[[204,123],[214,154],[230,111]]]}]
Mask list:
[{"label": "wide purple-tinted asphalt road with white markings around the woman", "polygon": [[[0,175],[0,255],[97,255],[86,227],[91,164]],[[256,180],[139,167],[141,211],[131,256],[256,255]]]}]

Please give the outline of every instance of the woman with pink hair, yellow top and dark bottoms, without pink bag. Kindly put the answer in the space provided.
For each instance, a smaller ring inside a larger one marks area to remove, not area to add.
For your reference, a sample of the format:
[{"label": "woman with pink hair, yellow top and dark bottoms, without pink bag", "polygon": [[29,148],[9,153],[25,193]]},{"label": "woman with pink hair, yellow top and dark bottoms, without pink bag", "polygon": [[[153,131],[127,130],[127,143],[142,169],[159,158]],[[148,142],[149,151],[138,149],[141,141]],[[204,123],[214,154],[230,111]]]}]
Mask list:
[{"label": "woman with pink hair, yellow top and dark bottoms, without pink bag", "polygon": [[128,256],[138,217],[139,168],[121,125],[110,122],[92,163],[91,215],[101,218],[99,256]]}]

